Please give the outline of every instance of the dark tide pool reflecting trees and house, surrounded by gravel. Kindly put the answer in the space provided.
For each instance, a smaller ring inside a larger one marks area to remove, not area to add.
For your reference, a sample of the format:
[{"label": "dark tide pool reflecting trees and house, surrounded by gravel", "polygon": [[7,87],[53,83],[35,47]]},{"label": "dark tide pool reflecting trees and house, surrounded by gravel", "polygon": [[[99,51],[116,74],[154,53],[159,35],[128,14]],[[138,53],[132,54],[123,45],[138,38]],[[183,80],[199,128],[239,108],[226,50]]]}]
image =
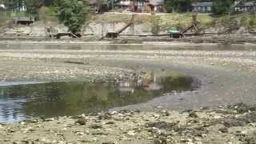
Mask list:
[{"label": "dark tide pool reflecting trees and house, surrounded by gravel", "polygon": [[146,76],[104,83],[51,82],[0,86],[0,122],[94,113],[149,101],[172,90],[193,90],[193,78]]}]

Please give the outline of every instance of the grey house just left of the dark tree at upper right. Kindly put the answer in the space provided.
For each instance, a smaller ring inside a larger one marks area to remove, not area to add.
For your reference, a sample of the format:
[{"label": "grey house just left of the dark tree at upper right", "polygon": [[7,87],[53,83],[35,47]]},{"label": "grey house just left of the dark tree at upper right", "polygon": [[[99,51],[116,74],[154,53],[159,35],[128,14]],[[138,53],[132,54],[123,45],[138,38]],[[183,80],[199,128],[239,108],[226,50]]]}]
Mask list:
[{"label": "grey house just left of the dark tree at upper right", "polygon": [[198,13],[211,13],[213,10],[212,2],[194,2],[192,3],[192,10]]}]

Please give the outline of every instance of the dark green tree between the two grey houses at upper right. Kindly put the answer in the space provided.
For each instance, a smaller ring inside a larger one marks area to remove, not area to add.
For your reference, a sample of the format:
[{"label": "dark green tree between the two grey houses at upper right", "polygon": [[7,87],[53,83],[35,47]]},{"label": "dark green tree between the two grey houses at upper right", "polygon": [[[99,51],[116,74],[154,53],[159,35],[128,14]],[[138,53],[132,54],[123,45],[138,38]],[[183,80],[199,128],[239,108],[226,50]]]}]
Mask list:
[{"label": "dark green tree between the two grey houses at upper right", "polygon": [[216,15],[230,14],[230,9],[233,4],[234,0],[214,0],[213,13]]}]

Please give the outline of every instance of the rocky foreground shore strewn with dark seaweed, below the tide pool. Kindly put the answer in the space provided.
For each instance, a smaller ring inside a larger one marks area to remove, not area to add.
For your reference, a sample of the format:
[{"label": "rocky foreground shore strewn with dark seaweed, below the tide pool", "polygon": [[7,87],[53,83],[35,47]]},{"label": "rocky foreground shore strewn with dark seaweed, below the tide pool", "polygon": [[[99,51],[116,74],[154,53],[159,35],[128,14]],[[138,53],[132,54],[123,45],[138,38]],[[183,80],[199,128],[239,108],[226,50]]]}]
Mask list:
[{"label": "rocky foreground shore strewn with dark seaweed, below the tide pool", "polygon": [[254,143],[256,107],[244,103],[199,110],[119,110],[0,123],[1,143]]}]

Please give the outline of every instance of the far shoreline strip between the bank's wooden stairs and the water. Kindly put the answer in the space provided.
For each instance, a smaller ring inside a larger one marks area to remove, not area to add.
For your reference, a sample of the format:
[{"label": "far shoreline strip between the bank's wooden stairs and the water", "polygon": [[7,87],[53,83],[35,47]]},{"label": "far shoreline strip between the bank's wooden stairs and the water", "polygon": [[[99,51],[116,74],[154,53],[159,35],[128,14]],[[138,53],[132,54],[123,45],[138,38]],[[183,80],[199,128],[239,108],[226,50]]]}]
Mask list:
[{"label": "far shoreline strip between the bank's wooden stairs and the water", "polygon": [[221,34],[212,36],[198,36],[186,38],[170,37],[130,37],[120,36],[118,38],[100,38],[96,36],[82,38],[50,39],[47,37],[31,36],[2,36],[0,42],[27,42],[27,43],[59,43],[59,44],[98,44],[98,45],[162,45],[162,46],[215,46],[215,45],[252,45],[256,46],[256,36],[239,34]]}]

